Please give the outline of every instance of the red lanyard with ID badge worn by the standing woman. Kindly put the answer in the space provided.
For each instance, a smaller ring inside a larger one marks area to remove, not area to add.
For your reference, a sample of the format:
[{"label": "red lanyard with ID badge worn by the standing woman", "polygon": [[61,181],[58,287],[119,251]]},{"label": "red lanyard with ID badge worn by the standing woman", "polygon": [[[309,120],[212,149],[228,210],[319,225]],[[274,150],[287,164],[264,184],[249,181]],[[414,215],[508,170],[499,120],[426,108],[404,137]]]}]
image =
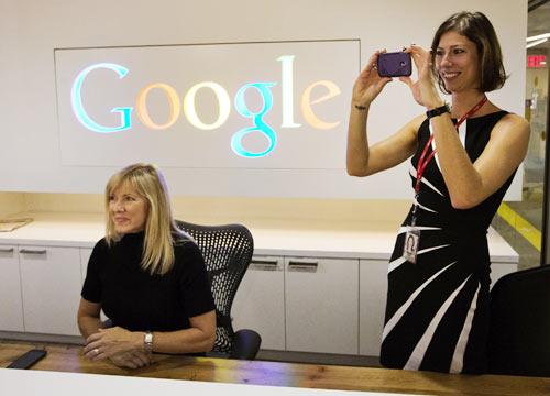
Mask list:
[{"label": "red lanyard with ID badge worn by the standing woman", "polygon": [[[470,111],[468,111],[463,117],[461,117],[457,121],[455,125],[457,131],[459,130],[459,127],[469,117],[472,117],[477,110],[480,110],[482,106],[485,105],[487,97],[484,96],[472,109],[470,109]],[[428,139],[428,142],[426,143],[426,146],[422,150],[422,153],[420,154],[420,157],[418,158],[416,183],[415,183],[415,205],[413,207],[411,223],[409,227],[407,227],[407,232],[405,233],[405,242],[403,246],[403,257],[413,264],[416,264],[417,262],[418,249],[420,246],[420,229],[416,227],[417,210],[419,205],[418,197],[420,194],[420,180],[422,179],[422,175],[426,170],[426,167],[428,166],[428,163],[436,155],[436,150],[432,150],[431,153],[428,155],[428,157],[426,157],[428,148],[431,146],[432,141],[433,141],[433,135],[431,134],[430,138]]]}]

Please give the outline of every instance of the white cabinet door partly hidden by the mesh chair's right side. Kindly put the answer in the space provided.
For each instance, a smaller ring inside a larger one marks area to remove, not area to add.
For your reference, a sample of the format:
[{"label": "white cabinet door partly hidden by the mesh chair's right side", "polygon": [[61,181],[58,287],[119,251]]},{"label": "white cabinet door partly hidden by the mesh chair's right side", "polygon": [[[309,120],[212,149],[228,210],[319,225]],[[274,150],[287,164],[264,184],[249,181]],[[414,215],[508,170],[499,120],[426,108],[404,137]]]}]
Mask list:
[{"label": "white cabinet door partly hidden by the mesh chair's right side", "polygon": [[233,328],[252,329],[262,349],[285,350],[285,272],[283,257],[254,256],[239,286]]}]

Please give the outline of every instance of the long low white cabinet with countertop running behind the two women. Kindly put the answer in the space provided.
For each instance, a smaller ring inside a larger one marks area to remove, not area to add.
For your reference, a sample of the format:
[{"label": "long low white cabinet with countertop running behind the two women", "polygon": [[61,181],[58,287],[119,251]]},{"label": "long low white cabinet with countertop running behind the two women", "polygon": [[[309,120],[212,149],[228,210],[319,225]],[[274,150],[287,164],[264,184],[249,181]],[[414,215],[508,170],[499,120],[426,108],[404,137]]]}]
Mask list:
[{"label": "long low white cabinet with countertop running behind the two women", "polygon": [[[32,223],[0,235],[0,333],[78,334],[80,290],[91,248],[105,234],[103,216],[29,217]],[[223,222],[230,221],[217,220]],[[251,220],[248,227],[255,263],[233,304],[237,330],[258,331],[266,350],[378,355],[395,224]],[[518,255],[494,230],[487,238],[494,282],[516,270]]]}]

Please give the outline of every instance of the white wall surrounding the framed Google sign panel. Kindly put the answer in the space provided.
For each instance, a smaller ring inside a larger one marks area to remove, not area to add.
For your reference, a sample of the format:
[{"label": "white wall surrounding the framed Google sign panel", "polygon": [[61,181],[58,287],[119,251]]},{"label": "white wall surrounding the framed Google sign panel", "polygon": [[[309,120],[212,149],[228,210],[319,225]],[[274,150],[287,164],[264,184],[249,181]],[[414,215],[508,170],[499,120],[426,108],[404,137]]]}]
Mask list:
[{"label": "white wall surrounding the framed Google sign panel", "polygon": [[[433,31],[449,14],[464,9],[480,10],[496,28],[510,75],[505,88],[490,97],[501,107],[522,114],[526,8],[525,1],[510,1],[503,7],[501,0],[463,0],[460,4],[440,1],[438,7],[433,7],[431,0],[2,0],[0,190],[101,193],[108,176],[119,168],[111,164],[64,163],[54,48],[358,40],[363,65],[370,54],[381,47],[395,51],[411,42],[428,46]],[[254,62],[254,56],[250,56],[243,59],[243,67]],[[224,66],[219,65],[220,74]],[[358,64],[351,67],[359,69]],[[311,69],[311,74],[315,72]],[[351,84],[355,75],[349,74]],[[346,101],[345,98],[343,102]],[[410,98],[407,87],[399,81],[392,82],[372,108],[371,141],[383,139],[422,111]],[[286,154],[311,156],[319,162],[324,156],[329,158],[331,150],[341,152],[345,145],[345,106],[339,116],[342,123],[338,129],[338,144],[310,152],[293,152],[293,147],[288,147]],[[127,150],[132,151],[131,141]],[[197,147],[199,150],[205,147]],[[343,158],[343,153],[338,155]],[[154,158],[143,155],[140,160]],[[344,164],[340,168],[318,164],[309,168],[166,166],[165,170],[176,195],[409,198],[407,166],[366,179],[349,177]],[[509,197],[518,198],[520,185],[516,183],[512,190],[514,194]]]}]

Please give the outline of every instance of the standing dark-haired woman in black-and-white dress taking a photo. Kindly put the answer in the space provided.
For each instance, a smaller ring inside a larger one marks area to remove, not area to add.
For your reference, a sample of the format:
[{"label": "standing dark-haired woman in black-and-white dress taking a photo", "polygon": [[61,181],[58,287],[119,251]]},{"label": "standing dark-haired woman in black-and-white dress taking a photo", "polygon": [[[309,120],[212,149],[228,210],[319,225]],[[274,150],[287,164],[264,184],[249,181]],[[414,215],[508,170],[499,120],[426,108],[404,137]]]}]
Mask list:
[{"label": "standing dark-haired woman in black-and-white dress taking a photo", "polygon": [[[415,198],[388,267],[381,362],[483,373],[491,283],[486,232],[526,155],[529,124],[485,96],[504,85],[506,74],[483,13],[453,14],[439,26],[431,51],[411,45],[405,52],[418,79],[399,80],[426,112],[370,145],[370,106],[392,80],[378,75],[376,52],[355,81],[348,134],[352,176],[411,163]],[[438,86],[451,95],[450,106]]]}]

